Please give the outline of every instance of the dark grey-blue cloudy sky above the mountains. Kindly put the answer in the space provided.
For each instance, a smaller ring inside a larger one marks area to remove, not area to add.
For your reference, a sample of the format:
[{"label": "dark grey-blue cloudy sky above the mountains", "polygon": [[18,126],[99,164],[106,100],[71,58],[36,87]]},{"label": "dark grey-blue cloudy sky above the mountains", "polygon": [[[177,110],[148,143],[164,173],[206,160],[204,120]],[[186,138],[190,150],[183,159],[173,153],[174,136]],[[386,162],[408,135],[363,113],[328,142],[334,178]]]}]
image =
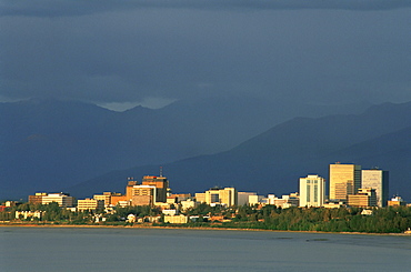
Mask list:
[{"label": "dark grey-blue cloudy sky above the mountains", "polygon": [[2,0],[0,101],[411,101],[411,1]]}]

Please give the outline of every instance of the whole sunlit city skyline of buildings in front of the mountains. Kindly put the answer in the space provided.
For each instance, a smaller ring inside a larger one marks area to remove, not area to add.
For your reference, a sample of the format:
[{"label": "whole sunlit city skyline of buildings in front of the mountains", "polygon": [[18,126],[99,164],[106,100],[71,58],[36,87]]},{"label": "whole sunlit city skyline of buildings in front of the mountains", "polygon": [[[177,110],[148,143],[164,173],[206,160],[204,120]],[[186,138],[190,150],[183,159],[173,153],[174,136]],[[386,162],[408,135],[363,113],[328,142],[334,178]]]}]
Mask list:
[{"label": "whole sunlit city skyline of buildings in front of the mountains", "polygon": [[[324,178],[318,174],[308,174],[304,178],[300,178],[298,181],[299,191],[290,193],[289,197],[282,195],[282,198],[287,197],[284,203],[289,203],[288,198],[297,198],[299,206],[327,206],[324,205],[325,202],[330,203],[330,206],[333,206],[333,203],[337,202],[350,205],[350,202],[357,203],[361,201],[361,203],[363,203],[362,200],[360,200],[360,195],[364,195],[364,201],[372,203],[372,206],[387,206],[387,202],[389,201],[388,170],[375,168],[361,169],[361,165],[343,164],[341,162],[329,164],[329,168],[328,183]],[[354,181],[355,177],[359,180]],[[210,190],[201,193],[172,193],[172,188],[169,184],[170,181],[162,175],[162,168],[160,168],[160,175],[143,175],[141,182],[137,181],[134,178],[128,178],[127,181],[124,193],[104,191],[102,194],[96,193],[92,199],[97,201],[101,200],[106,205],[107,203],[117,205],[120,202],[121,205],[156,205],[157,203],[168,203],[169,197],[171,195],[183,195],[181,197],[182,200],[194,199],[199,203],[224,203],[227,206],[231,206],[237,205],[240,199],[241,204],[250,204],[260,203],[260,200],[265,198],[264,195],[258,195],[257,192],[243,192],[238,191],[237,188],[227,187],[210,188]],[[327,189],[329,194],[327,194]],[[331,194],[331,192],[333,194]],[[243,197],[240,197],[240,194]],[[44,203],[50,203],[52,199],[60,198],[59,203],[62,205],[66,203],[64,201],[63,201],[64,198],[72,198],[69,197],[70,194],[64,195],[66,194],[62,192],[37,192],[34,195],[29,195],[28,200],[32,203],[41,203],[41,199],[46,197]],[[352,197],[351,199],[355,197],[355,200],[350,200],[350,197]],[[367,198],[370,200],[367,200]],[[265,199],[265,201],[268,201],[267,203],[273,204],[277,203],[273,202],[273,199],[278,198],[273,193],[269,193]],[[89,198],[86,200],[89,200]],[[68,203],[73,204],[73,199],[70,199]],[[98,204],[98,202],[93,203],[96,205]],[[283,204],[282,202],[278,203],[281,203],[281,205]],[[294,202],[290,203],[294,204]],[[67,206],[67,204],[64,204],[64,206]]]}]

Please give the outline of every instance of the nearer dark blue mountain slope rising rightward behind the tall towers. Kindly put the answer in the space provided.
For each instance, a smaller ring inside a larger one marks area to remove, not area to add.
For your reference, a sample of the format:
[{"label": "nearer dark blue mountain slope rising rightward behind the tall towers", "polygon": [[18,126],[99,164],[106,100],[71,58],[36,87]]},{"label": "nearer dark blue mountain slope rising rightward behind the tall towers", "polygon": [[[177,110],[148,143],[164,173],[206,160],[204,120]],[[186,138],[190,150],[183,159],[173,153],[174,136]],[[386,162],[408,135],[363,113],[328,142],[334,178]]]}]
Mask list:
[{"label": "nearer dark blue mountain slope rising rightward behind the tall towers", "polygon": [[[411,200],[411,102],[384,103],[361,114],[295,118],[212,155],[199,155],[163,165],[176,192],[199,192],[213,185],[260,193],[298,191],[298,179],[328,165],[361,164],[390,171],[391,193]],[[68,190],[76,195],[123,192],[127,177],[157,174],[159,165],[110,172]]]}]

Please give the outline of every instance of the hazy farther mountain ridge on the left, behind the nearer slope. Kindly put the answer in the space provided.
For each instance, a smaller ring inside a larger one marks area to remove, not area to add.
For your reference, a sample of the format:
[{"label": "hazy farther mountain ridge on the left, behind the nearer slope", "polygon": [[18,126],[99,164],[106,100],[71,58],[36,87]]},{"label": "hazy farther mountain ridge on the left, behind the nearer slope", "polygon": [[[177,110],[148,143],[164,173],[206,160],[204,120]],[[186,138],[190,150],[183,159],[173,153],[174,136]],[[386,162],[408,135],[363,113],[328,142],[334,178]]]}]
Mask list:
[{"label": "hazy farther mountain ridge on the left, behind the nearer slope", "polygon": [[[309,112],[318,117],[367,107],[315,105]],[[109,170],[229,150],[307,108],[239,98],[126,112],[56,99],[0,103],[0,199],[58,190]]]}]

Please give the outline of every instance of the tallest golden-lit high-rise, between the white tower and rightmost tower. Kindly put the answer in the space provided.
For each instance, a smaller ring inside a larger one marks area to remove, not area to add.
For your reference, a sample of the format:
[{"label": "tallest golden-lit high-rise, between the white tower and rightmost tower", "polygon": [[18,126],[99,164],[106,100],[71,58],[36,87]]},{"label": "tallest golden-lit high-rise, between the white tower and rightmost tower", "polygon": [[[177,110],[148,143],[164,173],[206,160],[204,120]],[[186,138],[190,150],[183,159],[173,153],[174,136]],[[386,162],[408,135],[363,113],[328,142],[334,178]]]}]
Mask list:
[{"label": "tallest golden-lit high-rise, between the white tower and rightmost tower", "polygon": [[361,165],[330,164],[330,197],[332,201],[347,201],[349,194],[355,194],[361,188]]}]

